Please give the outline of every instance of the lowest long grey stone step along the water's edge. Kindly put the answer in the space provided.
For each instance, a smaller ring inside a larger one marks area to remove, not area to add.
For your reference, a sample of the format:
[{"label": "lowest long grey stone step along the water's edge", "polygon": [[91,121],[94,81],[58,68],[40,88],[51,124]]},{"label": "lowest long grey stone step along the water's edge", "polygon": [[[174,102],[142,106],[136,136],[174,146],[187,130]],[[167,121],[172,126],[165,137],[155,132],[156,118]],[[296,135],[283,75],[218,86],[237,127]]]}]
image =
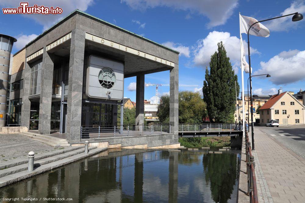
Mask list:
[{"label": "lowest long grey stone step along the water's edge", "polygon": [[75,162],[75,161],[80,160],[80,159],[84,159],[88,156],[91,156],[91,155],[94,155],[96,153],[102,152],[106,149],[107,148],[91,149],[88,154],[81,153],[81,154],[77,154],[77,155],[74,155],[74,156],[70,156],[70,157],[65,158],[65,159],[54,161],[54,162],[39,166],[39,167],[35,168],[34,171],[31,171],[31,172],[28,172],[28,171],[24,170],[24,171],[20,171],[18,173],[14,173],[14,174],[2,177],[2,178],[0,178],[0,187],[4,187],[6,185],[15,183],[19,180],[24,180],[26,178],[38,175],[38,174],[46,172],[48,170],[58,168],[60,166],[64,166],[66,164]]}]

